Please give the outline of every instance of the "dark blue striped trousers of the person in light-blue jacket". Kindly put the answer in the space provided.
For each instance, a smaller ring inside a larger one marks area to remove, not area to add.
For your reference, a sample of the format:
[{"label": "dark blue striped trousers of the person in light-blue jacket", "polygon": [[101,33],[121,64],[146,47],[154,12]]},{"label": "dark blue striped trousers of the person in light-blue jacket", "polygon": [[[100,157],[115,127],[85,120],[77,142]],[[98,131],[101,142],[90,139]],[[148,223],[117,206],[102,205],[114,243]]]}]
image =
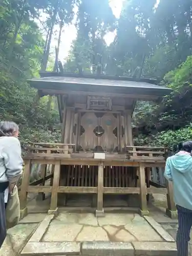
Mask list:
[{"label": "dark blue striped trousers of the person in light-blue jacket", "polygon": [[192,226],[192,210],[177,205],[178,231],[177,251],[178,256],[188,256],[188,242],[190,241],[190,229]]}]

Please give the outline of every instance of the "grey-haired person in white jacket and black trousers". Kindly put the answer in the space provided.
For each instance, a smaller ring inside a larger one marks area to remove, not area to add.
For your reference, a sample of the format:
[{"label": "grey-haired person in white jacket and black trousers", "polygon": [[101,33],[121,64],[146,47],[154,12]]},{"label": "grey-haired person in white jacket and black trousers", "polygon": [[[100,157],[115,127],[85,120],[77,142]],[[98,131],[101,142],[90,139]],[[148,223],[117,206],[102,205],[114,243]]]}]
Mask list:
[{"label": "grey-haired person in white jacket and black trousers", "polygon": [[6,197],[22,174],[23,160],[18,136],[18,126],[14,122],[0,122],[0,248],[6,238]]}]

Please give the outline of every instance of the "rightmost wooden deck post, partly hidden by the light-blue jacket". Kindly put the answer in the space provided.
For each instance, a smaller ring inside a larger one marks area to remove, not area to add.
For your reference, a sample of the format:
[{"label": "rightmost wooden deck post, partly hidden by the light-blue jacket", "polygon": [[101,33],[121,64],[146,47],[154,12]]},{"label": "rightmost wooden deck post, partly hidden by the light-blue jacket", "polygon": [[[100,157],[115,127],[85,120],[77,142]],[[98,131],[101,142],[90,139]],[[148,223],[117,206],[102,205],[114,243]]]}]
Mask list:
[{"label": "rightmost wooden deck post, partly hidden by the light-blue jacket", "polygon": [[166,215],[169,218],[177,219],[177,209],[174,202],[174,195],[173,195],[173,182],[167,181],[166,187],[167,187],[167,209],[166,209]]}]

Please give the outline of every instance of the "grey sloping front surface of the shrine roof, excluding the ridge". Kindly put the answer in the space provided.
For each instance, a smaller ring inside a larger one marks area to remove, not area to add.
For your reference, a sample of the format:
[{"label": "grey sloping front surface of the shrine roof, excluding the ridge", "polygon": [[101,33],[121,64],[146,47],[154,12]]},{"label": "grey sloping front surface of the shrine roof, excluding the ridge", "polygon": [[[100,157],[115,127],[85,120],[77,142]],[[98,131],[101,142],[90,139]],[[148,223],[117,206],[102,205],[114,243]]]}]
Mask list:
[{"label": "grey sloping front surface of the shrine roof, excluding the ridge", "polygon": [[167,95],[172,90],[157,84],[128,81],[109,80],[80,77],[49,76],[28,80],[37,89],[74,90],[74,91],[102,91],[116,93],[140,93],[148,95]]}]

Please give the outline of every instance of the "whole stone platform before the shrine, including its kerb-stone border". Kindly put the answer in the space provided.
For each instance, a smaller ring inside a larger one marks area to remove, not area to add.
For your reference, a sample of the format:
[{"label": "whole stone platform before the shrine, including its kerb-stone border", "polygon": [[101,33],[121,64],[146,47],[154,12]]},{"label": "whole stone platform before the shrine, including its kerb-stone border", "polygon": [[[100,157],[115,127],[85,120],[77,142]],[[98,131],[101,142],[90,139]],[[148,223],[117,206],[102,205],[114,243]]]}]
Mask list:
[{"label": "whole stone platform before the shrine, including its kerb-stone border", "polygon": [[[24,225],[35,219],[29,214]],[[174,256],[175,240],[152,217],[138,214],[60,212],[47,215],[28,237],[20,255]],[[9,255],[11,256],[11,255]]]}]

